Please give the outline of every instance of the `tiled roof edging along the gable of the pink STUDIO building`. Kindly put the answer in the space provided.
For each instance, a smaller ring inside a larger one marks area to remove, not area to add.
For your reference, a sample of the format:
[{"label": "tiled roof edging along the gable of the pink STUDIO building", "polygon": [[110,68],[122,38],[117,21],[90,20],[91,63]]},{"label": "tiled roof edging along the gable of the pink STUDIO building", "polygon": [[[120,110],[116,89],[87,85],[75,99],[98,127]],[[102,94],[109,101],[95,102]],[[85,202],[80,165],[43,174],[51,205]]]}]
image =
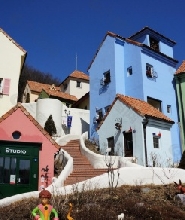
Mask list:
[{"label": "tiled roof edging along the gable of the pink STUDIO building", "polygon": [[6,112],[1,118],[0,123],[4,120],[6,120],[10,115],[12,115],[17,109],[20,109],[23,114],[38,128],[38,130],[56,147],[57,149],[60,149],[61,146],[59,146],[52,137],[48,134],[46,130],[30,115],[30,113],[21,105],[21,103],[18,103],[15,107],[11,108],[8,112]]}]

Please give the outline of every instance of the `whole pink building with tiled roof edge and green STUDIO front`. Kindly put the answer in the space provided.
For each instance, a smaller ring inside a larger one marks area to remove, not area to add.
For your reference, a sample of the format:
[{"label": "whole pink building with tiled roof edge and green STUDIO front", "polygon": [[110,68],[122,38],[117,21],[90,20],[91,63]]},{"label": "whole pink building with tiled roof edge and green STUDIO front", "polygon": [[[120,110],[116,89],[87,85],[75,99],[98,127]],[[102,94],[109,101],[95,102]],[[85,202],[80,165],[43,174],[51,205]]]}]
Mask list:
[{"label": "whole pink building with tiled roof edge and green STUDIO front", "polygon": [[21,105],[0,118],[0,199],[52,183],[60,146]]}]

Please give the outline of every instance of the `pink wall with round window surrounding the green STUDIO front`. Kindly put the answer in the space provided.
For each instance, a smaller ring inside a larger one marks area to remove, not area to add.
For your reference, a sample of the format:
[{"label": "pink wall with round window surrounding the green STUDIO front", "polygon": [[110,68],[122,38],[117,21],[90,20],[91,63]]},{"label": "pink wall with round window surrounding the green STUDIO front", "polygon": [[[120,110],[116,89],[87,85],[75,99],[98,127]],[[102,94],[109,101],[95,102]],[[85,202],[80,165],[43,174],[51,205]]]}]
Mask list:
[{"label": "pink wall with round window surrounding the green STUDIO front", "polygon": [[[15,140],[12,137],[14,131],[19,131],[21,137]],[[39,151],[39,182],[38,189],[41,185],[42,168],[49,166],[48,184],[51,184],[54,176],[54,153],[58,150],[43,135],[43,133],[30,121],[30,119],[18,108],[12,115],[0,123],[0,140],[17,141],[17,142],[40,142],[42,149]],[[47,184],[47,183],[45,183]],[[45,185],[46,186],[46,185]]]}]

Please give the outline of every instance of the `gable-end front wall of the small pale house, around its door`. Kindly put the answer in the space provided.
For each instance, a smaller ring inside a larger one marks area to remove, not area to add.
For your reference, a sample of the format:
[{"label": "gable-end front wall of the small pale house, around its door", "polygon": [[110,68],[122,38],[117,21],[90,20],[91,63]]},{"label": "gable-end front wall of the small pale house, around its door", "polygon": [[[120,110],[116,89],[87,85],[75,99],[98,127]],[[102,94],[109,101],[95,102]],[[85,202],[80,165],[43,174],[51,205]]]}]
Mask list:
[{"label": "gable-end front wall of the small pale house, around its door", "polygon": [[[122,119],[122,128],[120,131],[115,129],[115,123],[118,118]],[[107,138],[114,137],[115,152],[118,155],[124,156],[124,131],[132,128],[135,133],[133,137],[133,156],[137,157],[138,164],[145,164],[144,160],[144,141],[143,141],[143,126],[142,117],[135,113],[131,108],[128,108],[119,100],[116,101],[113,108],[109,112],[105,121],[98,130],[100,150],[104,152],[108,147]]]}]

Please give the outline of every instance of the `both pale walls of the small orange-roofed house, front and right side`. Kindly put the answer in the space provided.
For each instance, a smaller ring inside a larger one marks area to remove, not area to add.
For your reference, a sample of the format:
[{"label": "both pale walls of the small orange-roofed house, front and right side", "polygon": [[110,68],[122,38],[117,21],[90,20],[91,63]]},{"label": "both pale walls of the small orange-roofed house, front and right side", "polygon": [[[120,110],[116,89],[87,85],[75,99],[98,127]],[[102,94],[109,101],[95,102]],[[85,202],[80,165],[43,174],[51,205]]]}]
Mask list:
[{"label": "both pale walls of the small orange-roofed house, front and right side", "polygon": [[[122,128],[120,131],[115,129],[117,119],[122,119]],[[104,152],[108,147],[107,138],[114,137],[115,152],[124,156],[124,131],[132,128],[133,138],[133,157],[137,158],[140,165],[146,164],[145,144],[143,136],[143,117],[134,112],[131,108],[124,105],[119,100],[116,101],[105,121],[98,130],[100,150]],[[160,122],[149,119],[146,127],[146,149],[148,165],[152,165],[152,155],[157,155],[158,166],[166,167],[169,162],[173,163],[172,143],[171,143],[171,125],[169,123]],[[153,146],[153,134],[161,132],[159,139],[159,148]]]}]

